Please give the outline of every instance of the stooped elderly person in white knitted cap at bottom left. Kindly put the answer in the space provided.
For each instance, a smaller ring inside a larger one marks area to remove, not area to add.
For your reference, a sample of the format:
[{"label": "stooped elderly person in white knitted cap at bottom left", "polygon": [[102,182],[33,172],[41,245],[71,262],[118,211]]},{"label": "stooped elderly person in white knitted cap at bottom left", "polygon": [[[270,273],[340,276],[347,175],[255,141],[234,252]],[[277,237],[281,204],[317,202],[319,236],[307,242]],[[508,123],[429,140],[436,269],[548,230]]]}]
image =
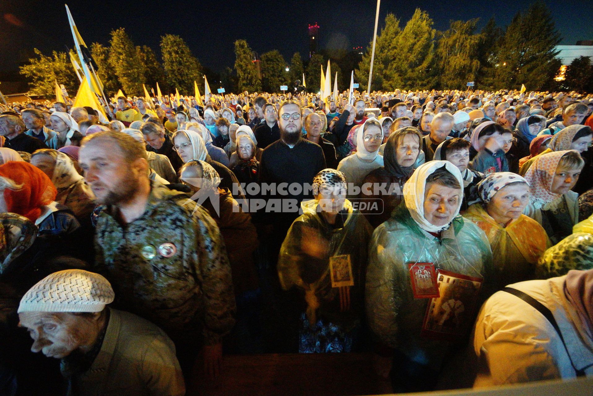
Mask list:
[{"label": "stooped elderly person in white knitted cap at bottom left", "polygon": [[68,395],[184,395],[173,341],[149,321],[106,308],[107,279],[84,270],[55,272],[18,306],[31,351],[61,359]]}]

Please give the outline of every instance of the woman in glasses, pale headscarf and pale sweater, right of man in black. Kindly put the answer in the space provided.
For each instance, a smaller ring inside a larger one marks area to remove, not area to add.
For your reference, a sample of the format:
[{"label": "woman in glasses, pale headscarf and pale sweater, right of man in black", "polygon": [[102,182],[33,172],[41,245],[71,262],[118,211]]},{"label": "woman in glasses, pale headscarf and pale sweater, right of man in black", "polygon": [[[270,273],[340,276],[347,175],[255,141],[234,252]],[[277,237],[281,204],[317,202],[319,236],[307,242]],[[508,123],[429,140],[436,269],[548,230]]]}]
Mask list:
[{"label": "woman in glasses, pale headscarf and pale sweater, right of man in black", "polygon": [[381,123],[376,118],[369,118],[356,129],[356,152],[342,159],[337,170],[346,176],[349,184],[348,198],[358,196],[352,187],[361,187],[366,175],[383,166],[383,156],[379,148],[383,140]]}]

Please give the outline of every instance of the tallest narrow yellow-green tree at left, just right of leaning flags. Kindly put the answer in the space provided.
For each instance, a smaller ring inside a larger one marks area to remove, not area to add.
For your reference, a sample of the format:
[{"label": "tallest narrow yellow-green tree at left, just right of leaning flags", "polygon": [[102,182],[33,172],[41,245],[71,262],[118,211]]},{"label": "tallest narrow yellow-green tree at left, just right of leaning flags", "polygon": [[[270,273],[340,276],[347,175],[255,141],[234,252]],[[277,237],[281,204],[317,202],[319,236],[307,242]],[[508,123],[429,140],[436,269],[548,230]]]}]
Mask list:
[{"label": "tallest narrow yellow-green tree at left, just right of leaning flags", "polygon": [[123,27],[111,31],[109,65],[126,95],[144,95],[144,65]]}]

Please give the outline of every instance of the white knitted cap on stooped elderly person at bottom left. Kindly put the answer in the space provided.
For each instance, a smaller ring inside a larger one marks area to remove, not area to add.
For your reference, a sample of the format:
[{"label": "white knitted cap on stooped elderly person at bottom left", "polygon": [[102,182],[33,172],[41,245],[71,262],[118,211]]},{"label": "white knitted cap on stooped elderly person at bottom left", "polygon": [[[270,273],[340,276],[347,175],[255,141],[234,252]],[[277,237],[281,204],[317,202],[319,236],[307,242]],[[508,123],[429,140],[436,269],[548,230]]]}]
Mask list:
[{"label": "white knitted cap on stooped elderly person at bottom left", "polygon": [[64,270],[29,289],[17,312],[101,312],[114,296],[111,284],[100,274]]}]

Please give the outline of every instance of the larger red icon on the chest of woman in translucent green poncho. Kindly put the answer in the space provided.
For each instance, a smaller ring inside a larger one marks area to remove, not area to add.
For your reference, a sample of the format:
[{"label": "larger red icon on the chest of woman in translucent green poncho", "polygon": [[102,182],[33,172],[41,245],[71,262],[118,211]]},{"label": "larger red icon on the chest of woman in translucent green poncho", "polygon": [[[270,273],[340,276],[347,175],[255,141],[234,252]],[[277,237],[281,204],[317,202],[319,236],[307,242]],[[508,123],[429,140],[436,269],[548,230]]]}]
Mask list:
[{"label": "larger red icon on the chest of woman in translucent green poncho", "polygon": [[482,278],[436,270],[439,296],[431,298],[422,336],[454,341],[467,333],[473,323]]}]

